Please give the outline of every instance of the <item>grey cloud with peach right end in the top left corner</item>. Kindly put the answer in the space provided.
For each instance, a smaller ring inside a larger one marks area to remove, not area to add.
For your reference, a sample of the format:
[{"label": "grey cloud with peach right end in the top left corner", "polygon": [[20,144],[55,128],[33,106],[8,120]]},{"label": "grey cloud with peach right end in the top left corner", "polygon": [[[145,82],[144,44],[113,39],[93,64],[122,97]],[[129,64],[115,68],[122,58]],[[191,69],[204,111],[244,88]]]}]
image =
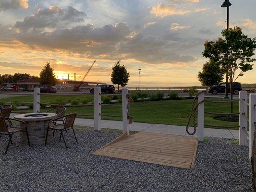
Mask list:
[{"label": "grey cloud with peach right end in the top left corner", "polygon": [[0,10],[27,9],[28,0],[0,0]]}]

